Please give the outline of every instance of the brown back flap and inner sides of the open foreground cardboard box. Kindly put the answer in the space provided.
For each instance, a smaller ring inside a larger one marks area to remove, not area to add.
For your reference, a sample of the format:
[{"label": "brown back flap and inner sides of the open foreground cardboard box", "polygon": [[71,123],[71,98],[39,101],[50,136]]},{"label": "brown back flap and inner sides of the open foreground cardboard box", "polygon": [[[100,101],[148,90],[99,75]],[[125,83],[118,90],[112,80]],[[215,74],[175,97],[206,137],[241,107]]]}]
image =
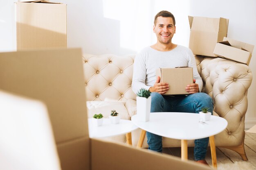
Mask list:
[{"label": "brown back flap and inner sides of the open foreground cardboard box", "polygon": [[[193,161],[90,139],[81,49],[0,53],[0,89],[45,103],[63,170],[211,170]],[[18,140],[14,143],[19,145]],[[20,160],[13,159],[10,167],[0,164],[0,169],[11,169],[16,162]]]}]

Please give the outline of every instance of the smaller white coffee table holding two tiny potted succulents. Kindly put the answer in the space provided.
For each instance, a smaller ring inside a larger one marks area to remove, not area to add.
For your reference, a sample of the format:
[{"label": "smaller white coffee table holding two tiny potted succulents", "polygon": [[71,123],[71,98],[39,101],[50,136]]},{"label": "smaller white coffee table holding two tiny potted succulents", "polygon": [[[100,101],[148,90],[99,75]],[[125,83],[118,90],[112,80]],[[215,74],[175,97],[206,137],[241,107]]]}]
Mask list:
[{"label": "smaller white coffee table holding two tiny potted succulents", "polygon": [[110,119],[103,118],[103,124],[101,126],[93,126],[92,118],[88,118],[89,136],[100,138],[100,137],[111,137],[117,135],[126,134],[127,144],[132,144],[131,131],[138,129],[135,124],[130,120],[121,119],[119,124],[111,124]]}]

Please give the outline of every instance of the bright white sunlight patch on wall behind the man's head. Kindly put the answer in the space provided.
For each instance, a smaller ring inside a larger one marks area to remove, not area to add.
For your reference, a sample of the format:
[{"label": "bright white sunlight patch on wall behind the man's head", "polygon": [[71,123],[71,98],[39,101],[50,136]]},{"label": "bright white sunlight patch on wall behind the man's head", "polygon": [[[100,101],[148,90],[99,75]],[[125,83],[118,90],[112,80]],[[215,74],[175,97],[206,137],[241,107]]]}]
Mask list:
[{"label": "bright white sunlight patch on wall behind the man's head", "polygon": [[103,17],[120,21],[121,48],[134,51],[156,43],[153,21],[162,10],[175,16],[177,28],[173,43],[188,46],[189,0],[103,0]]}]

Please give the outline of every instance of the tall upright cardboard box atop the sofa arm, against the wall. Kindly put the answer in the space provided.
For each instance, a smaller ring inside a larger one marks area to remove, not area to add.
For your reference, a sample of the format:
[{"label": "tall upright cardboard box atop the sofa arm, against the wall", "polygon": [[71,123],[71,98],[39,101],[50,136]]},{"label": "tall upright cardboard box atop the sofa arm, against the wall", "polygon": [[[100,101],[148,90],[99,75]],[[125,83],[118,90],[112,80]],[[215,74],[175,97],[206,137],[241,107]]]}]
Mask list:
[{"label": "tall upright cardboard box atop the sofa arm, against the wall", "polygon": [[189,16],[189,48],[195,55],[216,57],[213,54],[216,43],[227,37],[229,20],[225,18]]}]

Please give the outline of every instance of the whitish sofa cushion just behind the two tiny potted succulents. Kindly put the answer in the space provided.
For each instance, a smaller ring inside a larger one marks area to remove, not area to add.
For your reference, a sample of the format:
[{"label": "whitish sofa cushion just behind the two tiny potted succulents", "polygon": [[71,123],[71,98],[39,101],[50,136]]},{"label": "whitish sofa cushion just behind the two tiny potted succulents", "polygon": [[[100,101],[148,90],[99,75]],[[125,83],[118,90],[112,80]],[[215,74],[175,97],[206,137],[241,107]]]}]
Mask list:
[{"label": "whitish sofa cushion just behind the two tiny potted succulents", "polygon": [[101,113],[104,118],[108,118],[112,110],[117,111],[121,119],[129,120],[129,114],[124,106],[124,102],[117,101],[87,101],[88,118],[92,118],[94,114]]}]

